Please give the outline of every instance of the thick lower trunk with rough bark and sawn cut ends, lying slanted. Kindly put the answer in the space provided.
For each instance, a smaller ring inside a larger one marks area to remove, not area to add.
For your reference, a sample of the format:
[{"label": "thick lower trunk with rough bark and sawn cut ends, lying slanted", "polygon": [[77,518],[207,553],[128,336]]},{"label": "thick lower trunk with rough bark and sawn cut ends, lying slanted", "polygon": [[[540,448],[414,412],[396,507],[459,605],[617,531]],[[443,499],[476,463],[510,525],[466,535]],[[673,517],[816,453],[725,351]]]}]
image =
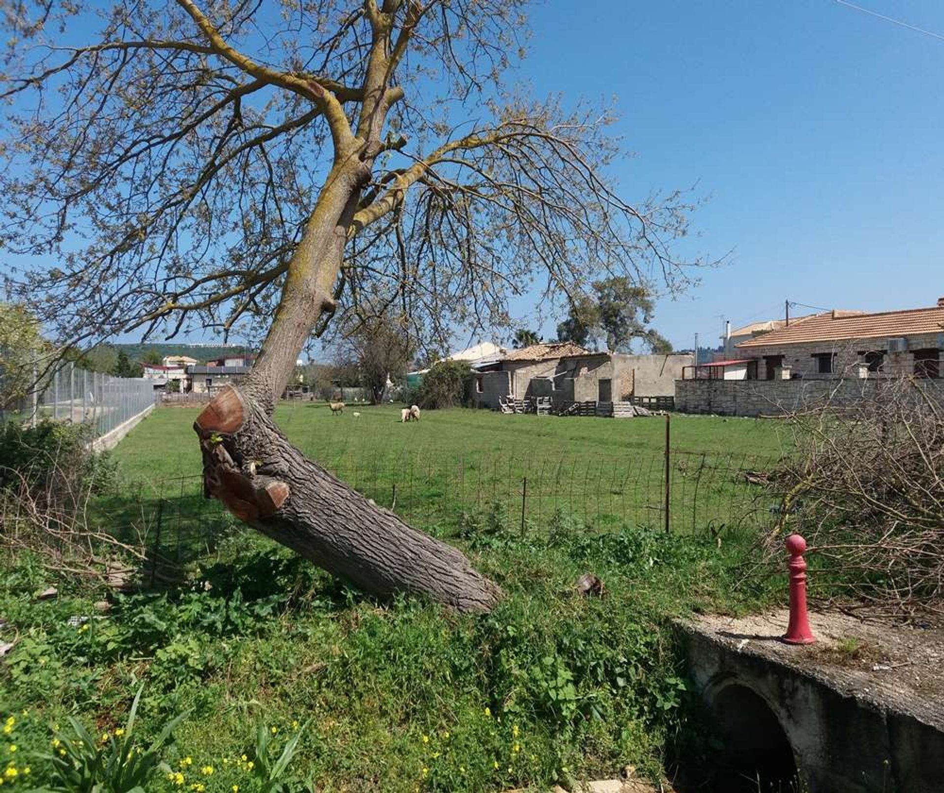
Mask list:
[{"label": "thick lower trunk with rough bark and sawn cut ends, lying slanted", "polygon": [[459,550],[305,459],[244,392],[224,389],[194,430],[207,495],[315,565],[368,593],[421,593],[462,612],[488,611],[501,597]]}]

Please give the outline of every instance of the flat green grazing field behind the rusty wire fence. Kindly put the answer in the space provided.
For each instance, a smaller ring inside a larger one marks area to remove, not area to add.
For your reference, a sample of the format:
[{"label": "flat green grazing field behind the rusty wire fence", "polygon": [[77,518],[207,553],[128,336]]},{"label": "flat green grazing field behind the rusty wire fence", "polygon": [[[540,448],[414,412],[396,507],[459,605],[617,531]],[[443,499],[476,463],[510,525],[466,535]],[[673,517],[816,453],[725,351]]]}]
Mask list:
[{"label": "flat green grazing field behind the rusty wire fence", "polygon": [[[115,450],[138,501],[170,499],[176,526],[204,520],[199,453],[191,429],[197,409],[164,408]],[[420,527],[453,523],[485,507],[522,515],[534,527],[564,511],[597,525],[664,525],[666,424],[662,417],[503,415],[429,411],[399,421],[398,407],[322,404],[278,408],[279,426],[313,460],[369,498]],[[784,450],[772,421],[673,415],[669,464],[671,525],[699,531],[733,521],[757,523],[768,504],[744,473],[764,469]],[[181,503],[181,499],[183,499]]]}]

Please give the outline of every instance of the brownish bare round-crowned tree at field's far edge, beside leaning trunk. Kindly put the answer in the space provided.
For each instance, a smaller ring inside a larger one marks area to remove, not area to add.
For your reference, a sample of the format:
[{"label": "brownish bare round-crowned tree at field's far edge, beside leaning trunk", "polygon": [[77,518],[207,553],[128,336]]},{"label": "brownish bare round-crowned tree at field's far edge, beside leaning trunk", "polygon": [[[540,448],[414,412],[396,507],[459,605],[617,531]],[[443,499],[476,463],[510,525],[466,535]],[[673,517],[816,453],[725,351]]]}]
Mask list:
[{"label": "brownish bare round-crowned tree at field's far edge, beside leaning trunk", "polygon": [[361,383],[370,389],[370,401],[375,405],[383,400],[387,380],[402,380],[413,358],[413,342],[405,323],[389,315],[358,322],[346,334],[342,347],[357,362]]}]

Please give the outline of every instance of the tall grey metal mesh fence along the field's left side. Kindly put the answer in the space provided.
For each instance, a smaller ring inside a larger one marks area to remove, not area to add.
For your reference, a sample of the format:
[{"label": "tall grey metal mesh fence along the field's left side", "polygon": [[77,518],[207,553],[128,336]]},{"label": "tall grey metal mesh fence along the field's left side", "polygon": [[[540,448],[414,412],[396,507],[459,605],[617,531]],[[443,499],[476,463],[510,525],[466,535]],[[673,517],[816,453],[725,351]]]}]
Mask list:
[{"label": "tall grey metal mesh fence along the field's left side", "polygon": [[88,422],[101,437],[155,403],[154,383],[143,378],[116,378],[65,363],[13,411],[0,411],[0,421],[35,424],[42,418]]}]

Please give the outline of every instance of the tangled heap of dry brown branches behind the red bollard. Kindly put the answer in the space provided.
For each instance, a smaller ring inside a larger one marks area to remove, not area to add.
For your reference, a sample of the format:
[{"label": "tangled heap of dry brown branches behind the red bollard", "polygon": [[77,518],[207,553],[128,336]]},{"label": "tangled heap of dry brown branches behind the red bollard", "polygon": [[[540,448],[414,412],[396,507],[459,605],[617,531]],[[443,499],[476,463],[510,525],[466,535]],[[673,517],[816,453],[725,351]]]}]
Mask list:
[{"label": "tangled heap of dry brown branches behind the red bollard", "polygon": [[799,453],[772,485],[782,509],[768,550],[782,556],[798,531],[857,598],[944,614],[944,389],[888,380],[791,423]]}]

